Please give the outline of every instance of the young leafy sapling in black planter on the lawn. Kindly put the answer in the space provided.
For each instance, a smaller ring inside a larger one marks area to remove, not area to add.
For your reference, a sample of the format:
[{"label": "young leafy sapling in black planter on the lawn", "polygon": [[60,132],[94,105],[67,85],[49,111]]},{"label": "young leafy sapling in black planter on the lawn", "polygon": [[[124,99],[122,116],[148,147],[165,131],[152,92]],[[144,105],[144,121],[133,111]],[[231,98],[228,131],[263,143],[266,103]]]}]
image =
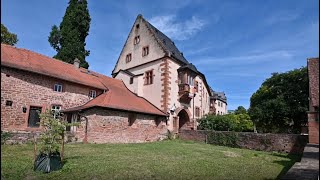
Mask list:
[{"label": "young leafy sapling in black planter on the lawn", "polygon": [[39,154],[35,144],[34,170],[49,173],[62,168],[62,157],[64,151],[64,132],[67,126],[73,124],[67,123],[62,116],[54,114],[50,110],[41,113],[41,127],[43,132],[40,135]]}]

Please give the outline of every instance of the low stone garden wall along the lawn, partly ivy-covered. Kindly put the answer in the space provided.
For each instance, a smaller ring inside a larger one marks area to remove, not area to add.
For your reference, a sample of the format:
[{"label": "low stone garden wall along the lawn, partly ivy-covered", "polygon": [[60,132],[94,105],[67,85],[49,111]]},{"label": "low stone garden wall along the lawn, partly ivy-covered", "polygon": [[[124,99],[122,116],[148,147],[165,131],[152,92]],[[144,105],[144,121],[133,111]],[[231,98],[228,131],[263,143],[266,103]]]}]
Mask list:
[{"label": "low stone garden wall along the lawn, partly ivy-covered", "polygon": [[205,131],[205,130],[181,130],[179,138],[206,142],[208,135],[222,133],[226,136],[233,133],[237,136],[236,145],[240,148],[254,149],[260,151],[277,151],[292,154],[302,154],[308,143],[308,135],[300,134],[271,134],[253,132],[229,132],[229,131]]}]

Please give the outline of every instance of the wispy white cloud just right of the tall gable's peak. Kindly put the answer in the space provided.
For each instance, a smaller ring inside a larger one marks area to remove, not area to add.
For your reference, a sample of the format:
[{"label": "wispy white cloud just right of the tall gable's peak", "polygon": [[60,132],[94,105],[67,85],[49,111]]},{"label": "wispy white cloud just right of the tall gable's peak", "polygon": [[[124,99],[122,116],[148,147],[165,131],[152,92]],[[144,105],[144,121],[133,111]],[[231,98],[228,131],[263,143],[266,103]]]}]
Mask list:
[{"label": "wispy white cloud just right of the tall gable's peak", "polygon": [[[216,20],[217,21],[217,20]],[[184,22],[178,22],[175,15],[156,16],[150,23],[161,32],[175,40],[186,40],[199,32],[206,22],[196,16]]]}]

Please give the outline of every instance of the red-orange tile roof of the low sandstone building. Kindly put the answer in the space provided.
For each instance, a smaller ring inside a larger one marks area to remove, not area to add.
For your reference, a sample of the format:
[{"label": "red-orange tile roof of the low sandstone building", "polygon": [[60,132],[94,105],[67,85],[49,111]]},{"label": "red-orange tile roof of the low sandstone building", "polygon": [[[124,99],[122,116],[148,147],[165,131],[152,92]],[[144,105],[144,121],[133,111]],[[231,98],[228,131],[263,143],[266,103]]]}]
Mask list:
[{"label": "red-orange tile roof of the low sandstone building", "polygon": [[90,107],[106,107],[166,116],[165,113],[149,101],[128,90],[121,80],[93,71],[89,71],[88,73],[86,69],[75,68],[73,64],[68,64],[30,50],[1,44],[1,65],[107,90],[106,93],[101,94],[86,104],[67,109],[65,112]]}]

